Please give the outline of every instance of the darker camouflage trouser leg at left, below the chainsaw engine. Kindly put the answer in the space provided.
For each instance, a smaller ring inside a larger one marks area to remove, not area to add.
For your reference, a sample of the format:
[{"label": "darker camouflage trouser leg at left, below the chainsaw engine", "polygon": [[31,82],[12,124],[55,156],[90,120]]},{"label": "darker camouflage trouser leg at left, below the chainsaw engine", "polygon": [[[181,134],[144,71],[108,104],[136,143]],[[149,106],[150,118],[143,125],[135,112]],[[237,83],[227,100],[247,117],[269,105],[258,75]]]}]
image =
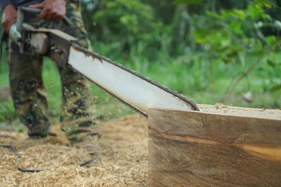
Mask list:
[{"label": "darker camouflage trouser leg at left, below the chainsaw engine", "polygon": [[41,78],[42,59],[21,55],[19,47],[10,40],[8,67],[11,96],[20,122],[30,137],[45,137],[49,123],[44,113],[47,100]]}]

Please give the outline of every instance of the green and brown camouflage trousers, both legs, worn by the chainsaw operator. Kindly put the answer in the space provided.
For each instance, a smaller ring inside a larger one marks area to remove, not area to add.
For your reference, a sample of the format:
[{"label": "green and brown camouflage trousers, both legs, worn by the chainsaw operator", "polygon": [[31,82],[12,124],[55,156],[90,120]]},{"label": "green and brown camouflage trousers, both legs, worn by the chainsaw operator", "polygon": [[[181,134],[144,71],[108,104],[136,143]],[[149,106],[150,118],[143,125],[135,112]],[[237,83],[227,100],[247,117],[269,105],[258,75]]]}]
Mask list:
[{"label": "green and brown camouflage trousers, both legs, worn by the chainsaw operator", "polygon": [[[87,48],[89,40],[79,12],[79,4],[67,2],[67,17],[70,18],[72,26],[44,22],[38,16],[28,18],[26,22],[39,27],[60,29],[79,39],[79,44]],[[30,137],[44,137],[48,133],[50,123],[46,116],[48,104],[41,77],[42,57],[20,54],[18,45],[11,40],[8,50],[9,81],[15,111],[29,130]],[[93,96],[89,82],[70,67],[58,67],[58,71],[63,90],[60,118],[62,130],[71,141],[79,141],[89,134],[100,136],[101,132],[92,120]]]}]

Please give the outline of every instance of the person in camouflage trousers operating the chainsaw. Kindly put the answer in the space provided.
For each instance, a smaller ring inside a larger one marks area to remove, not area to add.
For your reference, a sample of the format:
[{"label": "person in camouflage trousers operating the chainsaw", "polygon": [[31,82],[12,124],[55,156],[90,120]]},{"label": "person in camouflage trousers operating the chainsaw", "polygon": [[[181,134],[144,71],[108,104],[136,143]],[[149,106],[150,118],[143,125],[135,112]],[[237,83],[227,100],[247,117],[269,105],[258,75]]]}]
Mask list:
[{"label": "person in camouflage trousers operating the chainsaw", "polygon": [[[78,0],[1,0],[1,24],[7,33],[17,20],[18,6],[42,9],[39,16],[25,17],[28,24],[49,29],[56,27],[79,39],[79,45],[89,48]],[[65,15],[72,22],[71,26],[60,22]],[[37,139],[47,134],[55,135],[49,129],[50,122],[46,116],[48,103],[41,77],[42,57],[20,54],[18,45],[9,39],[7,61],[15,112],[20,122],[27,127],[29,137]],[[97,144],[101,130],[93,122],[93,97],[89,82],[70,67],[58,67],[58,71],[63,92],[61,129],[78,147]]]}]

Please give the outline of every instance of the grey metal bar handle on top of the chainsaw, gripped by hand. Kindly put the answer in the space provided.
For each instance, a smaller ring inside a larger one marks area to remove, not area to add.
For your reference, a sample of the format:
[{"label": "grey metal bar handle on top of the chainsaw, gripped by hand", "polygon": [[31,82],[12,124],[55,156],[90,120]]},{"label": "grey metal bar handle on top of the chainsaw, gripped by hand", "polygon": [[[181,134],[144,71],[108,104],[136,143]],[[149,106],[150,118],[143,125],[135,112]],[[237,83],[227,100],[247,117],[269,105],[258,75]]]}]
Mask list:
[{"label": "grey metal bar handle on top of the chainsaw, gripped by hand", "polygon": [[[22,24],[23,24],[23,20],[25,18],[25,13],[39,14],[39,13],[41,13],[41,11],[42,11],[41,8],[29,8],[29,7],[25,7],[25,6],[18,7],[18,18],[17,18],[18,32],[20,32],[20,30],[22,29]],[[72,22],[66,16],[63,17],[63,23],[68,26],[72,25]]]}]

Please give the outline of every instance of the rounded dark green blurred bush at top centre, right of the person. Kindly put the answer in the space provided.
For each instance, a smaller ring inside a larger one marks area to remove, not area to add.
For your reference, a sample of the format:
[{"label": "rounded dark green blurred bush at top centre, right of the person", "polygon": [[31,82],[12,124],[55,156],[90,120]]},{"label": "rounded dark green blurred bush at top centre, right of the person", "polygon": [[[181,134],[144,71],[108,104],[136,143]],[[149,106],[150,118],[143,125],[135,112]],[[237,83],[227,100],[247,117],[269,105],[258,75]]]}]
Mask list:
[{"label": "rounded dark green blurred bush at top centre, right of the person", "polygon": [[129,54],[138,43],[142,48],[159,49],[162,23],[153,17],[152,8],[139,0],[99,1],[89,22],[92,39],[115,45],[117,53]]}]

